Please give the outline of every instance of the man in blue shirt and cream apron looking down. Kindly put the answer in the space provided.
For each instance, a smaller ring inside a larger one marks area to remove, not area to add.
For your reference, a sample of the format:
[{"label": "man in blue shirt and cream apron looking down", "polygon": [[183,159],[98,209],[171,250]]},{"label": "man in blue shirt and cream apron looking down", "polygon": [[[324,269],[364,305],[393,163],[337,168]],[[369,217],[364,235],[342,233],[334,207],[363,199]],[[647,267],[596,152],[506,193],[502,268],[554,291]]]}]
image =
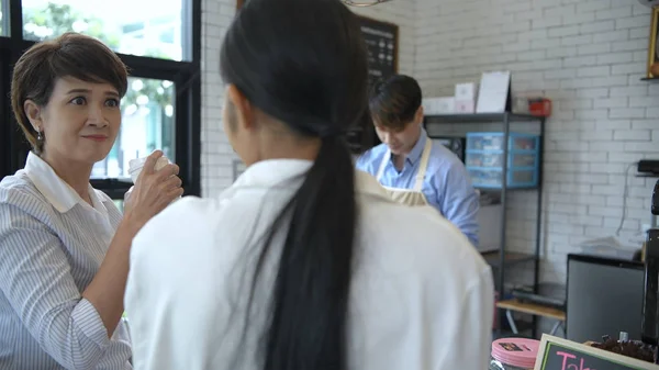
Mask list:
[{"label": "man in blue shirt and cream apron looking down", "polygon": [[412,77],[378,81],[370,113],[382,144],[357,159],[357,169],[373,175],[398,202],[434,206],[478,246],[479,197],[465,165],[423,128],[422,92]]}]

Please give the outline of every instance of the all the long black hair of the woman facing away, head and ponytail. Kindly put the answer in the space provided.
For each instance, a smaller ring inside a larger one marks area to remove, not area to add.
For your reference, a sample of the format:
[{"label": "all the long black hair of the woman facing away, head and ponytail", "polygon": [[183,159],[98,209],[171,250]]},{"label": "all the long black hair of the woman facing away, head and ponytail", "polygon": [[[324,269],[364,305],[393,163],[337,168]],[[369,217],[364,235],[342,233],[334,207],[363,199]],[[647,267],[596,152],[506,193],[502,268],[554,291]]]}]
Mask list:
[{"label": "all the long black hair of the woman facing away, head and ponytail", "polygon": [[368,110],[366,53],[357,18],[339,0],[249,0],[222,46],[226,83],[299,135],[322,139],[256,266],[255,281],[275,233],[288,228],[263,335],[265,370],[346,369],[357,210],[342,134]]}]

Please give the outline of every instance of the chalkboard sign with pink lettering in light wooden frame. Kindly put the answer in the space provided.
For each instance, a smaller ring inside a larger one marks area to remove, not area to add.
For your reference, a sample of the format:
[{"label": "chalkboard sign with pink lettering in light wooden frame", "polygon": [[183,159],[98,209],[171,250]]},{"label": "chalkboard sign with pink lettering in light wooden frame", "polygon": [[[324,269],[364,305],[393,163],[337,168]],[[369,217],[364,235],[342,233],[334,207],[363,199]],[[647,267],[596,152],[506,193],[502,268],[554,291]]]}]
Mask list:
[{"label": "chalkboard sign with pink lettering in light wooden frame", "polygon": [[534,370],[659,370],[659,366],[544,334]]}]

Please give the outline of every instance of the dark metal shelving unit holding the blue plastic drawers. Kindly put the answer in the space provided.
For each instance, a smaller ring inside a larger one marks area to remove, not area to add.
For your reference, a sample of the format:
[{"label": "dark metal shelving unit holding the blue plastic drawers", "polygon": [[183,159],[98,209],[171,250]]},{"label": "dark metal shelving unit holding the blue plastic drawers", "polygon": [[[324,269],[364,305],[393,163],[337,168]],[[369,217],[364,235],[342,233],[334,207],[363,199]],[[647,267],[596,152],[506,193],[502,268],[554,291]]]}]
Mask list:
[{"label": "dark metal shelving unit holding the blue plastic drawers", "polygon": [[[507,267],[526,264],[529,261],[534,262],[534,291],[537,292],[538,279],[539,279],[539,261],[540,261],[540,232],[541,232],[541,216],[543,216],[543,152],[545,148],[545,117],[528,115],[528,114],[515,114],[515,113],[476,113],[476,114],[448,114],[448,115],[426,115],[424,120],[424,126],[426,132],[428,125],[436,124],[477,124],[477,123],[500,123],[503,126],[503,177],[502,187],[499,189],[483,189],[483,191],[500,191],[501,192],[501,247],[499,251],[483,253],[484,259],[492,266],[495,272],[495,285],[500,293],[500,298],[505,296],[505,269]],[[534,188],[523,189],[509,189],[507,187],[507,167],[509,167],[509,138],[511,133],[511,123],[536,123],[539,124],[539,168],[538,168],[538,184]],[[429,135],[429,134],[428,134]],[[431,135],[433,138],[433,135]],[[523,253],[506,253],[506,193],[507,191],[517,191],[524,189],[535,189],[537,191],[537,214],[536,214],[536,245],[534,254]],[[500,312],[500,323],[503,323],[503,313]],[[535,319],[534,319],[535,322]],[[501,328],[501,325],[499,325]],[[535,325],[534,325],[535,327]],[[535,330],[534,330],[535,332]],[[534,333],[535,334],[535,333]]]}]

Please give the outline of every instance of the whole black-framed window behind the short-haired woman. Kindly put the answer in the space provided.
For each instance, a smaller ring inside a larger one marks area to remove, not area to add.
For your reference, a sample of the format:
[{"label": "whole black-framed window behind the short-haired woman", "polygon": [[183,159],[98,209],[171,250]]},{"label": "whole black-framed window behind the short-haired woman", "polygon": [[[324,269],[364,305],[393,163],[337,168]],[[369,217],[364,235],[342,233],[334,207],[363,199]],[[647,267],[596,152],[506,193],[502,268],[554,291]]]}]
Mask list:
[{"label": "whole black-framed window behind the short-haired woman", "polygon": [[[154,149],[181,168],[187,194],[200,193],[201,0],[0,0],[0,177],[22,168],[27,150],[10,113],[11,65],[38,41],[74,31],[101,40],[130,70],[122,126],[92,186],[122,206],[129,161]],[[5,124],[9,123],[9,124]]]}]

